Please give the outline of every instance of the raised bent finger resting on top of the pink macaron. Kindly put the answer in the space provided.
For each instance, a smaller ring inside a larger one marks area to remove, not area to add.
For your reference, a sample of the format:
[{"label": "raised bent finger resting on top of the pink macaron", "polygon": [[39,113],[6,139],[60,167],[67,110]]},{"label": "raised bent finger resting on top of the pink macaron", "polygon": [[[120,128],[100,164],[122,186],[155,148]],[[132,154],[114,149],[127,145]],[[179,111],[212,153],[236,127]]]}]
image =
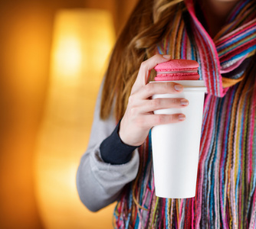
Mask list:
[{"label": "raised bent finger resting on top of the pink macaron", "polygon": [[156,54],[150,57],[148,60],[143,61],[139,67],[139,73],[134,83],[134,87],[140,87],[146,85],[149,79],[150,70],[153,69],[157,64],[166,62],[171,59],[169,55]]}]

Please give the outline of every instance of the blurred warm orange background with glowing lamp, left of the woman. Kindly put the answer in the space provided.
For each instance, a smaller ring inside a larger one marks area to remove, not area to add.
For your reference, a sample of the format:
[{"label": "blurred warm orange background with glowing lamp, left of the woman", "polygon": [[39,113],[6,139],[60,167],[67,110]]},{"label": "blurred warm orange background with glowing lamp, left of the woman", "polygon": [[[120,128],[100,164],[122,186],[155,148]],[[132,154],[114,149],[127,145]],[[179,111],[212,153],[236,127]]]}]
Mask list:
[{"label": "blurred warm orange background with glowing lamp, left of the woman", "polygon": [[113,44],[137,0],[0,2],[0,228],[112,228],[75,186]]}]

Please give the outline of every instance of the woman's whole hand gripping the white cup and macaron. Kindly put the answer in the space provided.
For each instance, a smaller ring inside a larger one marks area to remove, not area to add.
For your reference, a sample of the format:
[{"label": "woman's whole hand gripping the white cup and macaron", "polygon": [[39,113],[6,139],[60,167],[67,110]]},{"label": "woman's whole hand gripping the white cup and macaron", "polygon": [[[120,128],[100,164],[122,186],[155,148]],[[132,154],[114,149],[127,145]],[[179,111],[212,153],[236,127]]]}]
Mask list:
[{"label": "woman's whole hand gripping the white cup and macaron", "polygon": [[119,135],[123,143],[139,146],[146,140],[149,130],[159,124],[169,124],[185,120],[184,114],[153,114],[164,108],[181,108],[189,105],[185,98],[156,98],[154,94],[177,94],[182,85],[174,82],[148,83],[150,70],[158,63],[170,60],[169,55],[155,55],[144,61],[134,82],[126,112],[120,122]]}]

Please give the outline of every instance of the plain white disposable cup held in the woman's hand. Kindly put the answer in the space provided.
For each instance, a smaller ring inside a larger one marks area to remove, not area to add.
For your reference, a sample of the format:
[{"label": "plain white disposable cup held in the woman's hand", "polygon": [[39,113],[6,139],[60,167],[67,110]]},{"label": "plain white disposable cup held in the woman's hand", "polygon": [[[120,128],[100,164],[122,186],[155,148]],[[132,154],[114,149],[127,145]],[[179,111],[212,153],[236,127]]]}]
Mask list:
[{"label": "plain white disposable cup held in the woman's hand", "polygon": [[153,99],[186,98],[189,105],[154,111],[155,114],[182,113],[186,117],[185,121],[152,128],[155,190],[156,196],[162,198],[192,198],[196,189],[206,87],[202,80],[173,82],[183,85],[181,93],[153,95]]}]

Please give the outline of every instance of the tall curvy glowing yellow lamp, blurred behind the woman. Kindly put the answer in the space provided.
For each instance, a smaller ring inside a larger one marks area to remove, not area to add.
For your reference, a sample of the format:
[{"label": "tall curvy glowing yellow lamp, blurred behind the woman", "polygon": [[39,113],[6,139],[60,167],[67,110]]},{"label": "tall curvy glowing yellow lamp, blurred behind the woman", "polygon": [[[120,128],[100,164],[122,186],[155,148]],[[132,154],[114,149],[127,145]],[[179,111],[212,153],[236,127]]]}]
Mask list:
[{"label": "tall curvy glowing yellow lamp, blurred behind the woman", "polygon": [[113,42],[107,11],[72,9],[56,15],[51,86],[35,158],[36,194],[46,228],[112,227],[113,206],[90,214],[78,198],[75,177]]}]

